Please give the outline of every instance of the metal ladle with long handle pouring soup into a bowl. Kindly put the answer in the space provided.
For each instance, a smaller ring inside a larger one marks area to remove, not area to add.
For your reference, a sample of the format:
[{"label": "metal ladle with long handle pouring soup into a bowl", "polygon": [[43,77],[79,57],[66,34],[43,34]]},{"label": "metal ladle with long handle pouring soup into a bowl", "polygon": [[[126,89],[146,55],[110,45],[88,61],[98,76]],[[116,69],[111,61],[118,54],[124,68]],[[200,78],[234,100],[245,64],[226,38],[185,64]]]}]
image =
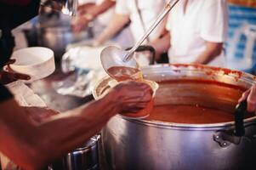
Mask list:
[{"label": "metal ladle with long handle pouring soup into a bowl", "polygon": [[179,0],[170,1],[165,8],[162,10],[162,13],[159,14],[156,21],[153,25],[145,32],[145,35],[141,37],[139,42],[134,45],[134,48],[131,48],[128,51],[123,50],[122,48],[117,48],[116,46],[109,46],[102,50],[100,54],[101,64],[103,65],[104,70],[112,76],[108,69],[113,66],[126,66],[131,68],[138,68],[136,60],[133,58],[133,54],[137,48],[145,41],[145,39],[155,30],[156,26],[163,20],[163,18],[168,14],[168,12],[174,8],[174,6],[179,2]]}]

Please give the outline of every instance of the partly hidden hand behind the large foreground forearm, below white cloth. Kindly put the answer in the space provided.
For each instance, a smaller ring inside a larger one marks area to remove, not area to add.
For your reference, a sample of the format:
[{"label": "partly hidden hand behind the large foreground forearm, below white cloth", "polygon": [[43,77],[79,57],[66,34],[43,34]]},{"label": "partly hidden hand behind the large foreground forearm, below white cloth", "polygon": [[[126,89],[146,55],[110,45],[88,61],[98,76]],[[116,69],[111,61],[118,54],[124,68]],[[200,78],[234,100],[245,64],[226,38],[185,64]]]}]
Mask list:
[{"label": "partly hidden hand behind the large foreground forearm, below white cloth", "polygon": [[33,122],[44,122],[51,116],[59,114],[58,111],[49,109],[48,107],[23,107],[27,116]]}]

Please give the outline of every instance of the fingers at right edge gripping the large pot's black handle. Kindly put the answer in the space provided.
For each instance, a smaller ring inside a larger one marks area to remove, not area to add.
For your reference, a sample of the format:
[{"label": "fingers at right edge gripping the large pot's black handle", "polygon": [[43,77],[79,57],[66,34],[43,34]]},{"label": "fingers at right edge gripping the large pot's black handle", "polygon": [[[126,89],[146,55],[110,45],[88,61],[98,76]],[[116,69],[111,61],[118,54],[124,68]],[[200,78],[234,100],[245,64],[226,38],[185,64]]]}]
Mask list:
[{"label": "fingers at right edge gripping the large pot's black handle", "polygon": [[242,97],[238,100],[238,102],[241,103],[243,100],[247,100],[247,111],[256,111],[256,85],[253,85],[252,88],[247,89],[247,91],[242,94]]}]

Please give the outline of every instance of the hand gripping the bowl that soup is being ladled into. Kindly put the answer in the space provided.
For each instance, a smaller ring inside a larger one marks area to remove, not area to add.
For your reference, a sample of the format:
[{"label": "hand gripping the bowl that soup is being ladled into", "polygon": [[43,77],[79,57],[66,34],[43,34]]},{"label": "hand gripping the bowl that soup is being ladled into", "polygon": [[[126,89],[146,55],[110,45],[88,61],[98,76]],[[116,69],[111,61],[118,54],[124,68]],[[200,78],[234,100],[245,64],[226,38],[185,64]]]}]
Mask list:
[{"label": "hand gripping the bowl that soup is being ladled into", "polygon": [[117,103],[118,112],[138,112],[151,101],[153,91],[144,82],[121,82],[112,88],[113,102]]}]

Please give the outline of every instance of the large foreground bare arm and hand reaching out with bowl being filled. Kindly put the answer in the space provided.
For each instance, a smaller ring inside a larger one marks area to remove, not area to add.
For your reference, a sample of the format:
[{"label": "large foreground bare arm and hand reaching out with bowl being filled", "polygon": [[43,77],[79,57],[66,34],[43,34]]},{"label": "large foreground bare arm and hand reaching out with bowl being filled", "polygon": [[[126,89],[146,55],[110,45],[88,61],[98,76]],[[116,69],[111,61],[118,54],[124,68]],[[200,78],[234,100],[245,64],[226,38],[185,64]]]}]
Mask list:
[{"label": "large foreground bare arm and hand reaching out with bowl being filled", "polygon": [[151,100],[141,82],[117,85],[104,98],[43,123],[31,121],[14,99],[0,104],[0,150],[20,167],[40,169],[82,145],[121,111],[139,111]]}]

